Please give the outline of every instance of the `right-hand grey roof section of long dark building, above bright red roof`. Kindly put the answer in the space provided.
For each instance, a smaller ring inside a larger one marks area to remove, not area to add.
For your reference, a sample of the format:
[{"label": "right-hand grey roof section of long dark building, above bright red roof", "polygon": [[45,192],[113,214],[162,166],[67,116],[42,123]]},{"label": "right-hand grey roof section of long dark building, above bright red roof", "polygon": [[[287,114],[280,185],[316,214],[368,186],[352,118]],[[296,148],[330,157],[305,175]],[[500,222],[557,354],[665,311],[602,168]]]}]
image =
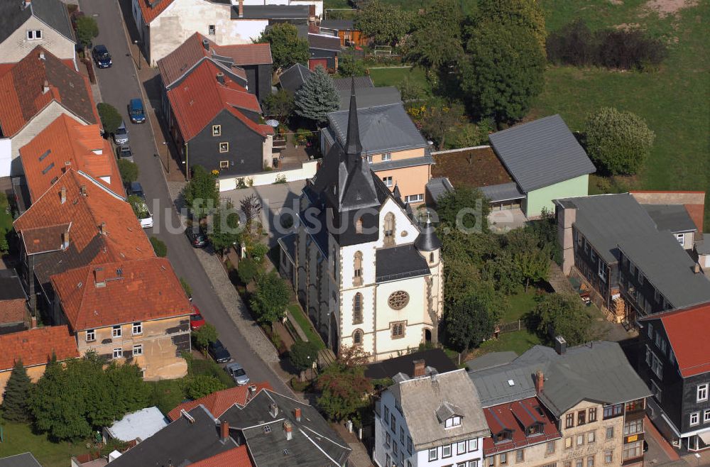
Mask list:
[{"label": "right-hand grey roof section of long dark building, above bright red roof", "polygon": [[710,300],[710,280],[693,272],[694,261],[670,231],[630,236],[619,248],[673,307]]}]

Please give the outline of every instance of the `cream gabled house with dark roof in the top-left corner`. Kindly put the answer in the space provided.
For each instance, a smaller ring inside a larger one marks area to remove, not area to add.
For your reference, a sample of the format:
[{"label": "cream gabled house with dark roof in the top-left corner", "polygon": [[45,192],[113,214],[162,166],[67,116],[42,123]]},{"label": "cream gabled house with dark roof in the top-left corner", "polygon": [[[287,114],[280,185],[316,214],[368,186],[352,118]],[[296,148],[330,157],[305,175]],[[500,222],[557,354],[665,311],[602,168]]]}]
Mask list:
[{"label": "cream gabled house with dark roof in the top-left corner", "polygon": [[38,45],[76,69],[74,31],[64,2],[0,2],[0,62],[19,62]]}]

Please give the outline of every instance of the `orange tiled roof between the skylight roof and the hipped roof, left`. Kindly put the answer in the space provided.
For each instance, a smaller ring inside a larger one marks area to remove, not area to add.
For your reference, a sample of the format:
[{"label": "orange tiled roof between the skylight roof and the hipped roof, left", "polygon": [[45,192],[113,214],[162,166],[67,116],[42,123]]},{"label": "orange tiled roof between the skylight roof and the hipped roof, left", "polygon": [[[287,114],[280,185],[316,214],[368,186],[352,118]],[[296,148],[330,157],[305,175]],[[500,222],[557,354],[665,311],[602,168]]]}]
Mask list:
[{"label": "orange tiled roof between the skylight roof and the hipped roof, left", "polygon": [[[66,188],[62,203],[61,189]],[[84,187],[86,195],[81,193]],[[104,234],[99,232],[105,222]],[[74,169],[67,170],[13,223],[28,254],[56,251],[62,233],[69,232],[70,244],[84,251],[97,237],[102,248],[92,252],[89,263],[151,258],[153,246],[141,229],[131,205],[95,180]]]}]

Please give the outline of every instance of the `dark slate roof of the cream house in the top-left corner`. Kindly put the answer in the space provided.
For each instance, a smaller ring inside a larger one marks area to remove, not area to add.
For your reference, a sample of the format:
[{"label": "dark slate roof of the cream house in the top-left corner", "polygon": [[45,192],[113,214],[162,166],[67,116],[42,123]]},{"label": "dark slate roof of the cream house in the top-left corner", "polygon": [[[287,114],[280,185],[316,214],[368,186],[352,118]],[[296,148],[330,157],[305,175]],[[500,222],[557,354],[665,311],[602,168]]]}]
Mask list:
[{"label": "dark slate roof of the cream house in the top-left corner", "polygon": [[[29,8],[22,8],[21,0],[0,1],[0,43],[17,31],[31,16],[74,41],[72,23],[64,2],[60,0],[32,0]],[[2,60],[0,58],[0,60]]]}]

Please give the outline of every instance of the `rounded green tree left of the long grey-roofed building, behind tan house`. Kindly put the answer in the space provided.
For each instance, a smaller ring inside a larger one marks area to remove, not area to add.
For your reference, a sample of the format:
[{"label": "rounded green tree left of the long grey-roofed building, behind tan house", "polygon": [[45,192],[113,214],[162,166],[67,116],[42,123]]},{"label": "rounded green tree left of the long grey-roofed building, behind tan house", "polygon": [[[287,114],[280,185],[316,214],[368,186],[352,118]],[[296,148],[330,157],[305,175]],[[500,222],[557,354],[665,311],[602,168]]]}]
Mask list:
[{"label": "rounded green tree left of the long grey-roofed building, behind tan house", "polygon": [[530,312],[530,319],[540,336],[547,341],[552,341],[554,336],[562,336],[569,346],[577,346],[594,339],[591,330],[594,318],[575,295],[542,295]]}]

